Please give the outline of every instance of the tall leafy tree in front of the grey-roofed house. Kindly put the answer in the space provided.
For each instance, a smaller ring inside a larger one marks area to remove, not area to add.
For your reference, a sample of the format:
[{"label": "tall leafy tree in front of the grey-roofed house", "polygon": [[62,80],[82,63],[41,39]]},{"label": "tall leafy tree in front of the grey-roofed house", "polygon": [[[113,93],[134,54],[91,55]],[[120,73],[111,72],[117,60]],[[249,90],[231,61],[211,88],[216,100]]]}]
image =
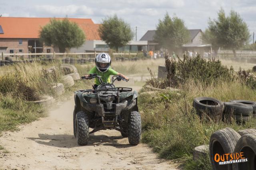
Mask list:
[{"label": "tall leafy tree in front of the grey-roofed house", "polygon": [[189,42],[189,31],[184,21],[174,16],[170,18],[166,12],[164,20],[159,20],[154,39],[165,48],[175,49]]}]

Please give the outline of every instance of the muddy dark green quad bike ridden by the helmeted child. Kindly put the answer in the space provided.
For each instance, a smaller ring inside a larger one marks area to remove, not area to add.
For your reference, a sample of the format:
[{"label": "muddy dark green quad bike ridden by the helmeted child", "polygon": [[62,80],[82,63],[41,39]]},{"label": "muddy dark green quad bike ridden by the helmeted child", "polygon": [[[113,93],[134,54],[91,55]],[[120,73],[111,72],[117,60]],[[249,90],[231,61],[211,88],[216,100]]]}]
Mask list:
[{"label": "muddy dark green quad bike ridden by the helmeted child", "polygon": [[[97,74],[81,78],[98,78],[100,85],[96,89],[74,92],[73,128],[78,145],[86,145],[89,134],[106,129],[120,131],[123,137],[128,137],[131,145],[138,145],[141,136],[138,93],[132,88],[113,84],[115,80],[127,80],[122,76],[112,76],[111,83],[106,84]],[[89,127],[93,128],[91,132]]]}]

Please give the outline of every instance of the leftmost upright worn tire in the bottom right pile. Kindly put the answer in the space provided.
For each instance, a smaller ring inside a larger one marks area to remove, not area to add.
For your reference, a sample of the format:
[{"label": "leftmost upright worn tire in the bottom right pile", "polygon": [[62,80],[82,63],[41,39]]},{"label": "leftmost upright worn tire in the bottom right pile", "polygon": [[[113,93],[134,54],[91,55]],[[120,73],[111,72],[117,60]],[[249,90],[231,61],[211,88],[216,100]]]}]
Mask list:
[{"label": "leftmost upright worn tire in the bottom right pile", "polygon": [[215,131],[210,137],[210,160],[213,170],[232,170],[232,164],[219,165],[215,162],[215,154],[233,153],[236,142],[241,136],[230,127]]}]

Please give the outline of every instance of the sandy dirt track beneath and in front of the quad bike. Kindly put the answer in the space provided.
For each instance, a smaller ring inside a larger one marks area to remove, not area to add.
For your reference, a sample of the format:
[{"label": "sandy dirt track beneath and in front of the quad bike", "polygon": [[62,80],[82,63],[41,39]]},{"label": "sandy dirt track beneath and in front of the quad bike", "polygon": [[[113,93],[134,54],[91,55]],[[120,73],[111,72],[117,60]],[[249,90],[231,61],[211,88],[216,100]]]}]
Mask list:
[{"label": "sandy dirt track beneath and in front of the quad bike", "polygon": [[129,145],[128,138],[115,130],[91,134],[88,145],[78,146],[73,136],[73,108],[70,97],[48,117],[22,125],[18,132],[3,133],[0,144],[9,153],[0,154],[0,169],[176,169],[174,164],[158,159],[145,144]]}]

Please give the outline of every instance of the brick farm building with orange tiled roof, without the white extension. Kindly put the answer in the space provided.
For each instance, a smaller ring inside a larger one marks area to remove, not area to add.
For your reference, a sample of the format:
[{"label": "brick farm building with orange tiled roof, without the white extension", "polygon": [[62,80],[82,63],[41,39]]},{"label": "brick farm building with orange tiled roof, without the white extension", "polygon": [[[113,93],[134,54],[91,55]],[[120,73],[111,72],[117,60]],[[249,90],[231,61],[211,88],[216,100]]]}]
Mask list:
[{"label": "brick farm building with orange tiled roof, without the white extension", "polygon": [[[58,52],[58,48],[44,46],[39,41],[40,28],[49,23],[50,19],[0,17],[0,53]],[[79,25],[86,34],[86,41],[100,40],[99,24],[95,24],[91,19],[68,18],[68,20]]]}]

